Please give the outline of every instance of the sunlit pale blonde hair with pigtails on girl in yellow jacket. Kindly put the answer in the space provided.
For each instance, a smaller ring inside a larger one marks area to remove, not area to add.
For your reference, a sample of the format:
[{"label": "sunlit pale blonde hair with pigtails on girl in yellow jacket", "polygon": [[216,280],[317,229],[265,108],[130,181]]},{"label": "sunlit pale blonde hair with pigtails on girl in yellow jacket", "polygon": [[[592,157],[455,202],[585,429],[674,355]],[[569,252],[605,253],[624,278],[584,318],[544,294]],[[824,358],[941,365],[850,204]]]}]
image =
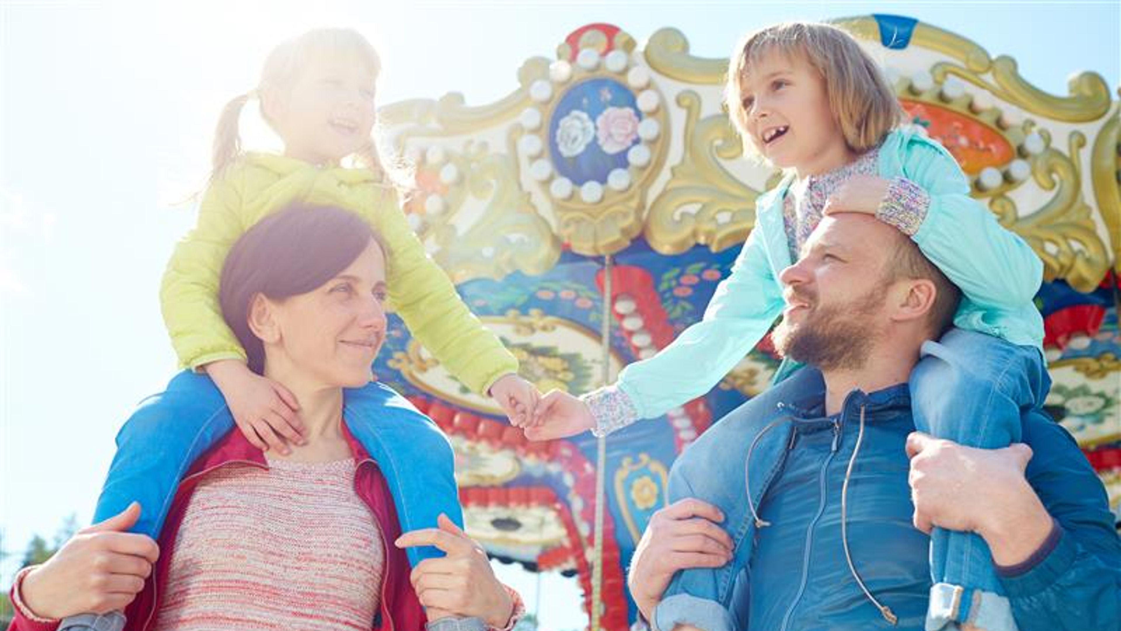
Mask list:
[{"label": "sunlit pale blonde hair with pigtails on girl in yellow jacket", "polygon": [[[241,110],[250,99],[276,91],[291,89],[307,65],[323,57],[345,57],[362,64],[377,79],[381,74],[381,58],[373,46],[360,33],[350,28],[319,28],[309,30],[299,37],[281,43],[269,53],[261,68],[261,77],[257,88],[230,100],[222,109],[217,127],[214,130],[214,148],[212,157],[211,182],[241,156],[241,135],[239,120]],[[272,122],[261,108],[261,117],[269,126]],[[372,135],[372,136],[376,136]],[[386,161],[380,155],[381,148],[376,138],[370,138],[369,150],[356,156],[363,166],[374,173],[393,179],[398,173],[387,172]]]}]

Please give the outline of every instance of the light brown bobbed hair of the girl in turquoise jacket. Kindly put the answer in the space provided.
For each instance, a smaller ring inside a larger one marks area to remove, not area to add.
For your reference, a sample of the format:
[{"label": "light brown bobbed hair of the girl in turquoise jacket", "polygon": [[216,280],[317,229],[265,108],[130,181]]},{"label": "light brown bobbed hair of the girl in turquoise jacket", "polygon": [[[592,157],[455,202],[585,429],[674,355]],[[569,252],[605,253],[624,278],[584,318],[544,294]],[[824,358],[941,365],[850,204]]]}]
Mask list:
[{"label": "light brown bobbed hair of the girl in turquoise jacket", "polygon": [[879,65],[840,28],[819,22],[768,26],[740,40],[728,65],[724,102],[743,139],[743,152],[762,159],[748,134],[743,84],[763,56],[780,53],[805,60],[825,80],[830,109],[837,118],[849,149],[862,154],[880,144],[904,121],[904,110]]}]

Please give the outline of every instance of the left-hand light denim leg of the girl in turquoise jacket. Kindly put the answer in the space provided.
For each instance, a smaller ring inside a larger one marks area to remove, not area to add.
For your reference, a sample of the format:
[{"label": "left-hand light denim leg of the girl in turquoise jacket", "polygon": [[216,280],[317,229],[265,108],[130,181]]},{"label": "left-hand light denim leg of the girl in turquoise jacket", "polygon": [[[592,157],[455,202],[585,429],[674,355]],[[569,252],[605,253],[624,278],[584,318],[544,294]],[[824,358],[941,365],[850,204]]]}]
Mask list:
[{"label": "left-hand light denim leg of the girl in turquoise jacket", "polygon": [[[806,392],[817,393],[822,376],[816,369],[799,369],[762,394],[751,399],[708,428],[686,448],[669,472],[668,499],[676,502],[695,497],[715,505],[724,513],[720,525],[735,545],[733,559],[720,568],[691,568],[678,571],[666,588],[655,610],[656,627],[669,631],[675,624],[691,624],[704,631],[730,631],[747,627],[744,605],[738,598],[747,583],[748,563],[754,537],[754,519],[748,507],[745,458],[753,440],[775,418],[779,403],[799,401]],[[789,424],[784,424],[760,439],[752,451],[759,466],[752,467],[751,502],[758,507],[762,500],[766,475],[780,461],[786,447]]]}]

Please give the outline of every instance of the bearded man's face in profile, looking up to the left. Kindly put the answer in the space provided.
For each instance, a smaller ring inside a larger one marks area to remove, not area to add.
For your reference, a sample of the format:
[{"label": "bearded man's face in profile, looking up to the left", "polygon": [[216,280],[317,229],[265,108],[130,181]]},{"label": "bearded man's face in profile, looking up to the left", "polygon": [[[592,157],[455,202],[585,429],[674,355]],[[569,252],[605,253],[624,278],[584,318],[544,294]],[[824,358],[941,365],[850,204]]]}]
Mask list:
[{"label": "bearded man's face in profile, looking up to the left", "polygon": [[775,348],[822,371],[862,368],[882,336],[891,227],[864,214],[826,217],[779,276],[787,307]]}]

